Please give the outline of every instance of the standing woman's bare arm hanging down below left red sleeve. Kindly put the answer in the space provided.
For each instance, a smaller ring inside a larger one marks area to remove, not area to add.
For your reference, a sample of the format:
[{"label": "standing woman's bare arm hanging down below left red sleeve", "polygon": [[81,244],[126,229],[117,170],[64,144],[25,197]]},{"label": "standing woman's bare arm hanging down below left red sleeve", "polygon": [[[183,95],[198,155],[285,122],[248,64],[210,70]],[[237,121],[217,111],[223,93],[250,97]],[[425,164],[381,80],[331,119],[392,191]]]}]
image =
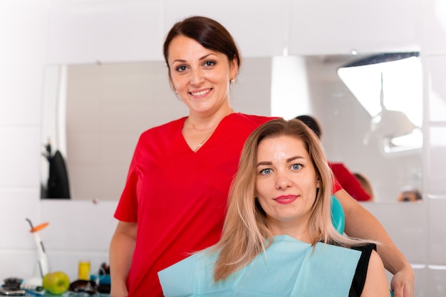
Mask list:
[{"label": "standing woman's bare arm hanging down below left red sleeve", "polygon": [[135,250],[137,223],[118,222],[110,242],[110,297],[128,296],[127,277]]}]

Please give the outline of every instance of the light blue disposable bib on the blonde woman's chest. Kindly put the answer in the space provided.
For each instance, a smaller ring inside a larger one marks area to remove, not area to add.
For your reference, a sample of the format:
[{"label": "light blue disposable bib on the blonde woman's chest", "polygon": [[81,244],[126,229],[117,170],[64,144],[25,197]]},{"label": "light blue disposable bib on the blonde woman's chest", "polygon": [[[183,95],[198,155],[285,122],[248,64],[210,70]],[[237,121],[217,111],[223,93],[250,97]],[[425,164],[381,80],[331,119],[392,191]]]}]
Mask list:
[{"label": "light blue disposable bib on the blonde woman's chest", "polygon": [[348,297],[361,251],[274,236],[265,254],[214,282],[218,253],[200,251],[158,273],[166,297]]}]

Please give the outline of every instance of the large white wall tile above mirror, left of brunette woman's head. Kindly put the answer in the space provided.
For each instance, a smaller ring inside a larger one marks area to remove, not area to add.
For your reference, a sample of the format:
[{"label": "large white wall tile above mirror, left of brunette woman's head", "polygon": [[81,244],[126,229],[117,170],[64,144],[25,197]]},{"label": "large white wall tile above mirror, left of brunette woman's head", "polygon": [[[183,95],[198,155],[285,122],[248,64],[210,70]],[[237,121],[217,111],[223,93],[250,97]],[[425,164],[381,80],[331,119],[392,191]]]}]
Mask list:
[{"label": "large white wall tile above mirror, left of brunette woman's head", "polygon": [[48,61],[57,64],[160,59],[161,26],[161,1],[54,4]]}]

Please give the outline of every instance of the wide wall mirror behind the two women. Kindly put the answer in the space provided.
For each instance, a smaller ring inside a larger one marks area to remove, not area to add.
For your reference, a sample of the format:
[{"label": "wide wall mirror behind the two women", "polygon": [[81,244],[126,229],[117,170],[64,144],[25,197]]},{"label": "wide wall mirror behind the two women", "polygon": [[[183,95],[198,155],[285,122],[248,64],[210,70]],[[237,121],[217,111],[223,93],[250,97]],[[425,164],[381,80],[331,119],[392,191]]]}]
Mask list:
[{"label": "wide wall mirror behind the two women", "polygon": [[[287,59],[296,57],[280,58],[290,65]],[[299,90],[288,102],[284,95],[274,98],[275,82],[290,77],[274,70],[275,59],[246,58],[230,100],[241,113],[271,115],[274,109],[273,115],[284,118],[314,115],[328,159],[368,177],[375,202],[396,202],[403,187],[420,188],[420,150],[390,156],[373,138],[365,144],[371,117],[337,73],[355,58],[299,57],[304,78],[280,88],[288,95]],[[162,61],[48,66],[44,90],[42,145],[49,141],[53,152],[65,157],[71,199],[119,199],[140,133],[187,115]],[[47,181],[48,161],[42,157],[43,188]]]}]

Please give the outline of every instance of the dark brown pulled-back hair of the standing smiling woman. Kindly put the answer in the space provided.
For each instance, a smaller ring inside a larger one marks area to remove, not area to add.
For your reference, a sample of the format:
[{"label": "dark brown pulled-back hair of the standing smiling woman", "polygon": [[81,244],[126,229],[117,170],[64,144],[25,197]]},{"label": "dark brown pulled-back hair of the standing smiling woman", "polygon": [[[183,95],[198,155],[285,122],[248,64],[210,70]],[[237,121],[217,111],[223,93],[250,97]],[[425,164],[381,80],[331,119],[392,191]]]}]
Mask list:
[{"label": "dark brown pulled-back hair of the standing smiling woman", "polygon": [[236,59],[237,66],[240,67],[241,59],[239,49],[237,48],[231,33],[229,33],[222,24],[219,24],[219,22],[214,21],[213,19],[209,19],[205,16],[190,16],[189,18],[174,24],[165,38],[162,52],[164,54],[167,68],[169,69],[169,76],[169,46],[172,40],[177,36],[192,38],[204,48],[224,53],[229,62]]}]

